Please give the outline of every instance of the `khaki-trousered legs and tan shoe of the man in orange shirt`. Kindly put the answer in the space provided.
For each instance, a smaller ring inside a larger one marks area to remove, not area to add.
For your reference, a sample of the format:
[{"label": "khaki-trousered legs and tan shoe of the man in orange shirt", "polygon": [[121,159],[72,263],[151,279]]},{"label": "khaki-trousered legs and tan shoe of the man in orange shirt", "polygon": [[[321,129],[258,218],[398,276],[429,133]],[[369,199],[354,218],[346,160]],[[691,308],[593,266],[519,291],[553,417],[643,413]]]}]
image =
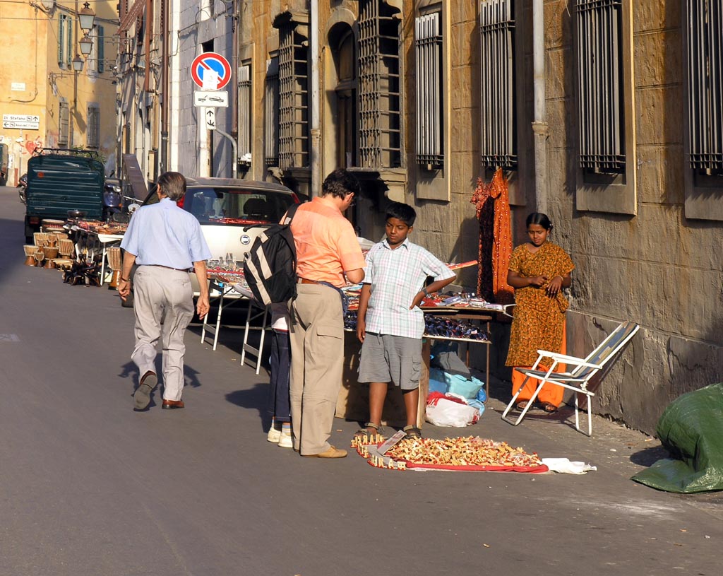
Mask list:
[{"label": "khaki-trousered legs and tan shoe of the man in orange shirt", "polygon": [[[333,453],[328,443],[333,426],[336,400],[341,388],[344,355],[344,329],[341,298],[335,290],[319,284],[299,284],[294,301],[295,312],[304,323],[304,385],[301,391],[301,449],[302,456]],[[292,342],[299,335],[292,332]],[[296,366],[296,349],[292,344],[291,363]],[[296,372],[292,370],[291,421],[296,433],[294,403]],[[346,452],[335,449],[332,457]]]}]

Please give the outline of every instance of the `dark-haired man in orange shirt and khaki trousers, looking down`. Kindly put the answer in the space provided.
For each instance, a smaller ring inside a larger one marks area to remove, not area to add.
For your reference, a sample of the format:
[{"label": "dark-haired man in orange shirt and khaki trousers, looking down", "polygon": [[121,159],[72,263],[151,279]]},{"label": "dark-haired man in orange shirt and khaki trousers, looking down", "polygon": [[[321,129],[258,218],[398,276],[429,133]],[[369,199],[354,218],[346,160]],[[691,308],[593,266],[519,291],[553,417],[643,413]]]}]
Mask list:
[{"label": "dark-haired man in orange shirt and khaki trousers, looking down", "polygon": [[291,221],[296,245],[296,299],[291,302],[291,425],[301,456],[343,458],[328,443],[341,387],[344,323],[341,293],[346,278],[364,279],[364,256],[343,211],[359,194],[344,169],[324,180],[322,193],[302,204]]}]

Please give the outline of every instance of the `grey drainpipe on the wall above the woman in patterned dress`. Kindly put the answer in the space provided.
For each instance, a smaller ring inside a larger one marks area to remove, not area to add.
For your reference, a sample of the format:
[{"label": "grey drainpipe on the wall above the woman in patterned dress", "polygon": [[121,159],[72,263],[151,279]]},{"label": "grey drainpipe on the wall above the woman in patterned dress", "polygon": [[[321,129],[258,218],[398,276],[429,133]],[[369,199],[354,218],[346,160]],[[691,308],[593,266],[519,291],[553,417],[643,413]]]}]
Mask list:
[{"label": "grey drainpipe on the wall above the woman in patterned dress", "polygon": [[544,1],[532,3],[532,61],[534,69],[535,205],[536,211],[547,212],[547,115],[545,111],[544,74]]}]

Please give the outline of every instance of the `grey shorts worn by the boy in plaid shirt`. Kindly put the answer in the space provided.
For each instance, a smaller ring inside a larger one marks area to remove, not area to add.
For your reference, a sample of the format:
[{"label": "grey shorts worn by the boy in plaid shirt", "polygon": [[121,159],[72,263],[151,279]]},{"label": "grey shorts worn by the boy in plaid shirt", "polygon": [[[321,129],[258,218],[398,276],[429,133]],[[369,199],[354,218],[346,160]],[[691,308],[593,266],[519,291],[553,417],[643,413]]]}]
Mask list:
[{"label": "grey shorts worn by the boy in plaid shirt", "polygon": [[402,390],[414,390],[421,374],[421,338],[367,332],[361,344],[359,382],[393,382]]}]

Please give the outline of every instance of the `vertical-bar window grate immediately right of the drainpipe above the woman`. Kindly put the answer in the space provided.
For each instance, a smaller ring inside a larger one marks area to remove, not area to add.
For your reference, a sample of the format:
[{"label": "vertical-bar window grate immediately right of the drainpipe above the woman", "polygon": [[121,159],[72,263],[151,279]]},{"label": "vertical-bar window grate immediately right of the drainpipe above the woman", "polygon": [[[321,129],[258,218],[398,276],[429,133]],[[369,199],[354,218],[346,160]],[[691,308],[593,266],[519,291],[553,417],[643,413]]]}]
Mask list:
[{"label": "vertical-bar window grate immediately right of the drainpipe above the woman", "polygon": [[625,171],[621,0],[577,0],[580,166]]}]

